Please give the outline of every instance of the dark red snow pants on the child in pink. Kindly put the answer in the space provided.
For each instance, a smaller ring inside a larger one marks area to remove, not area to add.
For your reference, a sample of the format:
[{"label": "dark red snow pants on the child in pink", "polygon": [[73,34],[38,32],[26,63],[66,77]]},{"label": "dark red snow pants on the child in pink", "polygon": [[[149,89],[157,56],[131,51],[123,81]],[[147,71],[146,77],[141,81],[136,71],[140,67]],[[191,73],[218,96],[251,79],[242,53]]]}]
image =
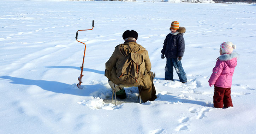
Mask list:
[{"label": "dark red snow pants on the child in pink", "polygon": [[229,106],[233,106],[232,99],[230,96],[231,87],[222,88],[218,86],[214,86],[214,96],[213,96],[213,105],[214,108],[228,108]]}]

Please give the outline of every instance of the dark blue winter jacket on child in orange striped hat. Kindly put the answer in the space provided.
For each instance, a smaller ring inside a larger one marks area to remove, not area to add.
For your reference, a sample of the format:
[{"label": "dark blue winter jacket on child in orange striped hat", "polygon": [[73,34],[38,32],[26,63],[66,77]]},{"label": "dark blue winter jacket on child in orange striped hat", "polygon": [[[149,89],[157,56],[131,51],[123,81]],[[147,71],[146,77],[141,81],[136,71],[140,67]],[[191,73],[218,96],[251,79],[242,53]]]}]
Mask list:
[{"label": "dark blue winter jacket on child in orange striped hat", "polygon": [[166,58],[177,58],[178,56],[183,56],[184,51],[185,41],[183,33],[181,32],[177,35],[169,33],[163,42],[161,53],[165,54]]}]

